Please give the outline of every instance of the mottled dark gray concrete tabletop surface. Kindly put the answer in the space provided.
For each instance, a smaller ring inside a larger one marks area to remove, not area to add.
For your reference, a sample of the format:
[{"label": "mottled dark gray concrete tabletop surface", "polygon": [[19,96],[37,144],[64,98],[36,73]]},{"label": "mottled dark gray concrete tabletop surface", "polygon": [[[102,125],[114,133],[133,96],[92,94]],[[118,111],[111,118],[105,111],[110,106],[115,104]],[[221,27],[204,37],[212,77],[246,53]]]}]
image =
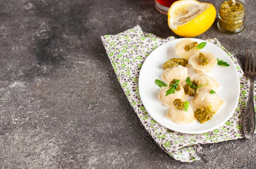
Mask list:
[{"label": "mottled dark gray concrete tabletop surface", "polygon": [[[242,33],[222,34],[215,21],[198,36],[217,37],[242,68],[256,49],[256,1],[245,6]],[[0,0],[0,168],[255,168],[256,137],[203,145],[193,163],[157,146],[100,39],[137,24],[175,36],[154,0]]]}]

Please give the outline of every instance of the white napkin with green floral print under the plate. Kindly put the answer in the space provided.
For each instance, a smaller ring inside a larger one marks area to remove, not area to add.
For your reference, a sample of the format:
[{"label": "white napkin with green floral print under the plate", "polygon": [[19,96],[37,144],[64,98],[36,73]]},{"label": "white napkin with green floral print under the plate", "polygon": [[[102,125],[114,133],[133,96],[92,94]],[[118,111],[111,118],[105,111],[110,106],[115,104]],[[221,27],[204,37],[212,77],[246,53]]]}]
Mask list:
[{"label": "white napkin with green floral print under the plate", "polygon": [[[248,100],[249,80],[244,76],[236,58],[216,38],[208,41],[225,51],[236,65],[240,77],[240,99],[236,111],[225,124],[218,129],[203,134],[183,134],[163,127],[151,118],[140,99],[138,79],[144,60],[155,48],[175,39],[175,37],[162,39],[153,34],[143,32],[140,26],[137,25],[120,34],[105,35],[101,38],[116,76],[131,106],[134,107],[145,129],[171,157],[182,162],[197,161],[200,160],[200,157],[196,152],[202,149],[200,144],[243,138],[241,124]],[[254,97],[255,99],[256,97]]]}]

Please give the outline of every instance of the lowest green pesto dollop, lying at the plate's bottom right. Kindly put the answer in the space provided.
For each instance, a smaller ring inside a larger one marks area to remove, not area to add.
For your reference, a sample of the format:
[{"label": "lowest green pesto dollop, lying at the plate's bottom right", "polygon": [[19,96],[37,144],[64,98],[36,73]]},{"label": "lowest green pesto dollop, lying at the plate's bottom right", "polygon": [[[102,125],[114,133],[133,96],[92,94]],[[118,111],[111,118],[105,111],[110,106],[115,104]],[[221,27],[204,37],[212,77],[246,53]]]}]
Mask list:
[{"label": "lowest green pesto dollop, lying at the plate's bottom right", "polygon": [[197,110],[195,110],[195,117],[198,118],[202,124],[212,119],[213,114],[215,114],[215,112],[211,109],[211,106],[207,106],[206,108],[198,107]]}]

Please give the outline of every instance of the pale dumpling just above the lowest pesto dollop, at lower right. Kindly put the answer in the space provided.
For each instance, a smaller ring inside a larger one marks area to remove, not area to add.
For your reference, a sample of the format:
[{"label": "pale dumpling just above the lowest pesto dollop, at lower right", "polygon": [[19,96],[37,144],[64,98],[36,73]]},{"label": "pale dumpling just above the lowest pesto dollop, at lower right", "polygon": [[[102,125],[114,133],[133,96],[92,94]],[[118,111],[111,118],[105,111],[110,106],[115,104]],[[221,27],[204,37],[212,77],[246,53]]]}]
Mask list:
[{"label": "pale dumpling just above the lowest pesto dollop, at lower right", "polygon": [[211,106],[211,109],[217,113],[218,109],[225,102],[223,99],[218,96],[217,93],[210,94],[211,89],[204,88],[200,91],[195,98],[190,101],[193,110],[195,111],[198,107],[206,108],[207,106]]}]

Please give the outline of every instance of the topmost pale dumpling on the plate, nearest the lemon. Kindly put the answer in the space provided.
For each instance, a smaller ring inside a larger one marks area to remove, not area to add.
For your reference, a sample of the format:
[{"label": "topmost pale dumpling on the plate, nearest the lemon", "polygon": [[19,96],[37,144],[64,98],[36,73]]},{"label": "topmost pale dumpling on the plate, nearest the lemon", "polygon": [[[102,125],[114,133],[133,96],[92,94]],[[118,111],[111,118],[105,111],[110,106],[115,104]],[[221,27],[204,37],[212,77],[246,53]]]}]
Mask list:
[{"label": "topmost pale dumpling on the plate, nearest the lemon", "polygon": [[196,52],[198,51],[201,51],[200,49],[194,49],[192,51],[186,51],[185,48],[187,45],[190,45],[191,43],[193,43],[195,41],[192,41],[188,38],[180,41],[180,42],[177,42],[175,44],[175,53],[178,55],[178,56],[181,56],[185,59],[189,59],[193,54],[195,54]]}]

